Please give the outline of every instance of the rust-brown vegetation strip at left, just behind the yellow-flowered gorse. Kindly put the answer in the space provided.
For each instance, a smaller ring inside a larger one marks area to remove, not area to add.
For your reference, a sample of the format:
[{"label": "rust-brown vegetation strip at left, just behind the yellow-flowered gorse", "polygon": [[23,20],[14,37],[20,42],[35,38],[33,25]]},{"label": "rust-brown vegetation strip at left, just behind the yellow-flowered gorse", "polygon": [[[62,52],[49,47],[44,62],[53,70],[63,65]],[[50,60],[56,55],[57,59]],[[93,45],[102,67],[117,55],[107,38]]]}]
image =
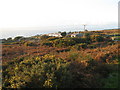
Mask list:
[{"label": "rust-brown vegetation strip at left, just behind the yellow-flowered gorse", "polygon": [[48,46],[25,46],[25,45],[3,45],[2,46],[2,61],[11,61],[16,57],[27,56],[44,56],[45,54],[52,52],[61,52],[67,50],[67,48],[56,48]]}]

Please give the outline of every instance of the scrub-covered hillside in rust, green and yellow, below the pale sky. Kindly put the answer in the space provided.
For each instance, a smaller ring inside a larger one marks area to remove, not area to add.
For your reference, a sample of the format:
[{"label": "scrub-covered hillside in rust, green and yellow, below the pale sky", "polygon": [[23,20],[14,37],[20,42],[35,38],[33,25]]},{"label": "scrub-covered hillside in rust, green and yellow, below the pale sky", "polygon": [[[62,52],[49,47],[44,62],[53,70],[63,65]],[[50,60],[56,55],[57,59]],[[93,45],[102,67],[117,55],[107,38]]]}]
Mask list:
[{"label": "scrub-covered hillside in rust, green and yellow, below the pale sky", "polygon": [[2,87],[118,88],[118,30],[3,39]]}]

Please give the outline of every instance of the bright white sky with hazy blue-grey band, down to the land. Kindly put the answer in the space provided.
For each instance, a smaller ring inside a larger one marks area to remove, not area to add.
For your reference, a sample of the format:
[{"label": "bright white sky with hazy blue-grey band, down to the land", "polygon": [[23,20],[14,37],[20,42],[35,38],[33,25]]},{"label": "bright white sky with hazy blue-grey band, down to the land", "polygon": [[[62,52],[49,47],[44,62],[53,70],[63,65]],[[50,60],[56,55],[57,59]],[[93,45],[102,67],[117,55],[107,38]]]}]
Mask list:
[{"label": "bright white sky with hazy blue-grey band, down to the land", "polygon": [[83,24],[91,30],[117,28],[118,2],[119,0],[0,0],[1,37],[19,35],[20,31],[20,35],[23,35],[34,30],[37,33],[72,31],[78,28],[82,30]]}]

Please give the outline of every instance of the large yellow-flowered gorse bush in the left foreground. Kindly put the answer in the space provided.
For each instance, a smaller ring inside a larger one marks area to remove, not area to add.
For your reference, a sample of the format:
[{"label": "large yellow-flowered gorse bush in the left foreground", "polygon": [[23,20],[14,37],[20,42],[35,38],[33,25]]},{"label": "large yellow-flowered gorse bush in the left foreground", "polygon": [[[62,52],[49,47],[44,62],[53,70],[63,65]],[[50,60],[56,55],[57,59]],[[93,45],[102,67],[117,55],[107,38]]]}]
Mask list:
[{"label": "large yellow-flowered gorse bush in the left foreground", "polygon": [[[70,87],[72,75],[69,63],[53,55],[36,57],[14,64],[4,72],[3,87],[8,88],[57,88]],[[12,71],[9,71],[12,69]],[[9,78],[7,76],[10,76]],[[7,81],[6,81],[7,80]],[[67,83],[67,84],[66,84]]]}]

